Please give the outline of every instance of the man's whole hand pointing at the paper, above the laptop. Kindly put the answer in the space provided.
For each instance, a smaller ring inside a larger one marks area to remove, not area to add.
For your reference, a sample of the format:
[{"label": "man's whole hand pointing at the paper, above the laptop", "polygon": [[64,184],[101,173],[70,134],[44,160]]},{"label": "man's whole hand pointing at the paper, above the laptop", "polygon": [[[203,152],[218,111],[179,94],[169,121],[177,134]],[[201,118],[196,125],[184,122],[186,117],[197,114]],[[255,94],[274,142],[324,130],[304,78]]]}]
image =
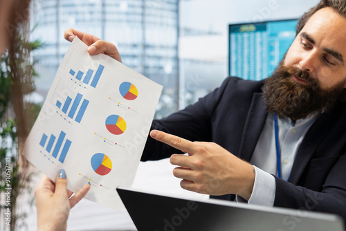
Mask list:
[{"label": "man's whole hand pointing at the paper, above the laptop", "polygon": [[191,142],[163,131],[153,130],[150,136],[188,153],[170,157],[172,165],[180,166],[173,175],[183,179],[183,189],[210,195],[237,194],[246,201],[251,197],[254,167],[223,147],[214,142]]}]

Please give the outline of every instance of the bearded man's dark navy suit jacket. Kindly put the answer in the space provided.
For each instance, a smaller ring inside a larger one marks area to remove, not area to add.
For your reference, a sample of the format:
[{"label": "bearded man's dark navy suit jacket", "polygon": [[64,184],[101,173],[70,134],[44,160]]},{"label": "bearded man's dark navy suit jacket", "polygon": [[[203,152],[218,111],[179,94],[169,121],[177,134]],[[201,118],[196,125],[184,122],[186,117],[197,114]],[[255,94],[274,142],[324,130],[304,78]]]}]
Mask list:
[{"label": "bearded man's dark navy suit jacket", "polygon": [[[158,129],[192,140],[215,142],[250,162],[266,120],[263,81],[228,77],[183,111],[154,120]],[[181,153],[148,138],[142,160]],[[346,221],[346,104],[318,117],[298,149],[289,181],[275,176],[274,206],[340,214]],[[234,195],[213,196],[232,200]]]}]

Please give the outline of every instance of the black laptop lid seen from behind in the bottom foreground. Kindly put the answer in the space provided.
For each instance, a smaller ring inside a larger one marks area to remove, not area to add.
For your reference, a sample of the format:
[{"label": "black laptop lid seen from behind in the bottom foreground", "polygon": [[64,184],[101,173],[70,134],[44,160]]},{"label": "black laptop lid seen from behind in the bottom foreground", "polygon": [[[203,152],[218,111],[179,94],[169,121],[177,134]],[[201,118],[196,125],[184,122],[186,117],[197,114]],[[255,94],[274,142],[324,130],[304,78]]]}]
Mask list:
[{"label": "black laptop lid seen from behind in the bottom foreground", "polygon": [[165,196],[118,187],[138,231],[345,231],[334,214]]}]

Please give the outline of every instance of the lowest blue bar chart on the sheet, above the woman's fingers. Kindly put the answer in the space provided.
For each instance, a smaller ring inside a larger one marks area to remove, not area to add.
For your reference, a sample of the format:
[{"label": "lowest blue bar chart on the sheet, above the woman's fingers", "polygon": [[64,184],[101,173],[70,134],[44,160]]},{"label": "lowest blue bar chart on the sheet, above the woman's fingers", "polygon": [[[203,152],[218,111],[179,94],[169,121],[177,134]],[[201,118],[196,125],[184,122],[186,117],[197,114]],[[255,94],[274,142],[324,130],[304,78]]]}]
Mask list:
[{"label": "lowest blue bar chart on the sheet, above the woman's fingers", "polygon": [[[71,140],[68,140],[68,139],[65,140],[65,136],[66,136],[66,133],[64,133],[64,131],[61,131],[58,138],[56,138],[56,136],[51,134],[48,140],[48,136],[45,133],[43,133],[42,138],[39,141],[39,145],[43,148],[46,147],[46,151],[49,154],[51,154],[55,159],[60,153],[59,161],[61,163],[64,163],[64,160],[72,144]],[[57,142],[55,142],[55,140],[57,140]],[[65,143],[64,143],[64,140],[65,140]],[[63,143],[64,143],[64,146],[62,147]],[[55,144],[55,147],[53,148],[54,144]],[[62,151],[60,151],[61,148],[62,148]],[[52,149],[53,149],[53,152],[52,152]]]}]

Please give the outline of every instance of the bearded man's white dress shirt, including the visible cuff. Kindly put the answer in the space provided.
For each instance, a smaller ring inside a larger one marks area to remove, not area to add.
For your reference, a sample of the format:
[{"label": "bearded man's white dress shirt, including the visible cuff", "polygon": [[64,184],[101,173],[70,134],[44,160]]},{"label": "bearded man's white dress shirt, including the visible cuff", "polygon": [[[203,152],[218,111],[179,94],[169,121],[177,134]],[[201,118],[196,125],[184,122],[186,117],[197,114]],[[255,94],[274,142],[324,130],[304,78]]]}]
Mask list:
[{"label": "bearded man's white dress shirt, including the visible cuff", "polygon": [[[285,181],[288,181],[291,174],[295,154],[297,154],[305,134],[315,121],[316,118],[308,118],[297,120],[294,124],[291,120],[278,119],[281,176]],[[275,178],[271,174],[277,176],[277,156],[274,116],[271,114],[267,115],[251,163],[255,167],[255,183],[248,203],[273,206],[275,201]],[[237,196],[237,201],[244,201],[244,199]]]}]

